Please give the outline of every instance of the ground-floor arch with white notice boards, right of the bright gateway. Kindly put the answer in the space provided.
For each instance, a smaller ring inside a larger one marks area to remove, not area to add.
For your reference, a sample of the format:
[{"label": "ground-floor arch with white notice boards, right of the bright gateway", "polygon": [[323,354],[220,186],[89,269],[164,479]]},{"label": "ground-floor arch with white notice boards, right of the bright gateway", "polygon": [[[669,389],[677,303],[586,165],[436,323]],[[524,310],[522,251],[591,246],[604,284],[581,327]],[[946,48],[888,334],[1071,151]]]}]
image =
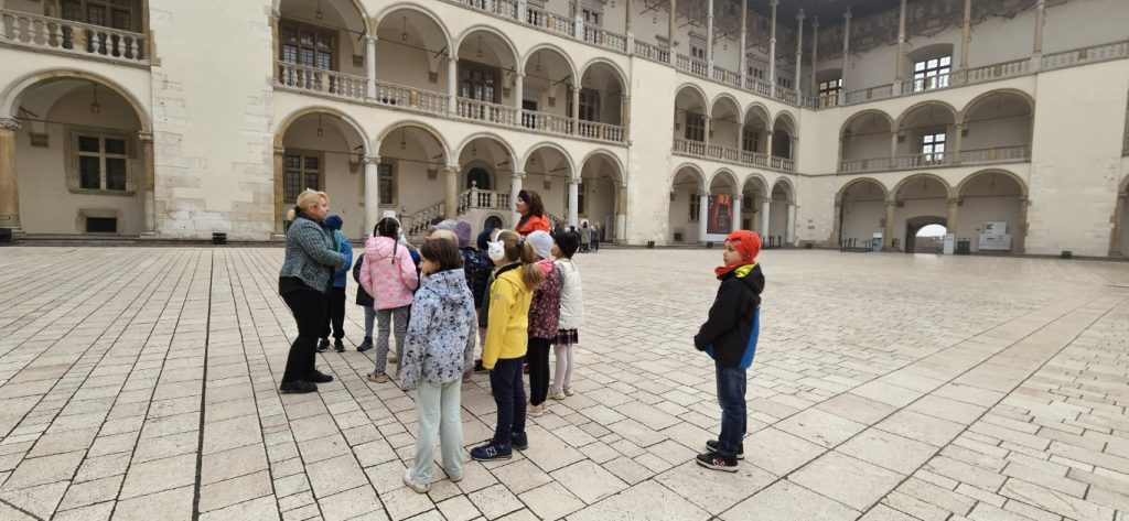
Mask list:
[{"label": "ground-floor arch with white notice boards, right of the bright gateway", "polygon": [[[949,233],[971,240],[972,251],[1023,253],[1026,236],[1026,187],[1004,170],[973,174],[957,186],[949,207]],[[992,229],[986,227],[994,223]],[[981,240],[981,235],[984,240]],[[999,236],[1006,237],[999,237]]]}]

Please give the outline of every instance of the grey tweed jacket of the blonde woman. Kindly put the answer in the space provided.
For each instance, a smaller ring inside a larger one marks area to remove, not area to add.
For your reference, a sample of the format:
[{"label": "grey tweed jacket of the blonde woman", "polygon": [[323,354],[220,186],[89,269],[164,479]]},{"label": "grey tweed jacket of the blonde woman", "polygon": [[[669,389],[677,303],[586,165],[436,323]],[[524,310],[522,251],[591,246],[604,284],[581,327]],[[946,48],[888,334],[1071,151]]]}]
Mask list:
[{"label": "grey tweed jacket of the blonde woman", "polygon": [[345,256],[336,250],[333,235],[305,213],[286,232],[286,260],[279,277],[296,276],[306,285],[325,293],[335,272],[345,265]]}]

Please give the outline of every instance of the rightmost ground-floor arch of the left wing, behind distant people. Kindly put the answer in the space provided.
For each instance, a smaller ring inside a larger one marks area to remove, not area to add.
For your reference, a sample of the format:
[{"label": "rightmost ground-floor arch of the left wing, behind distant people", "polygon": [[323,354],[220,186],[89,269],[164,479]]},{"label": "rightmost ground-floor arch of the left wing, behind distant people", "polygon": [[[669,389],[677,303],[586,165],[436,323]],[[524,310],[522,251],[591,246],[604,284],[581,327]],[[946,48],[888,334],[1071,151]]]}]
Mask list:
[{"label": "rightmost ground-floor arch of the left wing, behind distant people", "polygon": [[627,185],[614,156],[599,152],[585,159],[577,194],[579,220],[596,226],[602,241],[627,238]]}]

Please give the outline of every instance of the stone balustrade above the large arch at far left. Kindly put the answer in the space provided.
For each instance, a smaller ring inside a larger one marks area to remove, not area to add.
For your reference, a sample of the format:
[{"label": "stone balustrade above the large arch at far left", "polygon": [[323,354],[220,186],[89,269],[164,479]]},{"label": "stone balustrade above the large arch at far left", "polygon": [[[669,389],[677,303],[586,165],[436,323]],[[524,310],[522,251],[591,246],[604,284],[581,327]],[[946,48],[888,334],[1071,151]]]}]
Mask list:
[{"label": "stone balustrade above the large arch at far left", "polygon": [[148,64],[145,36],[128,30],[0,10],[0,43]]}]

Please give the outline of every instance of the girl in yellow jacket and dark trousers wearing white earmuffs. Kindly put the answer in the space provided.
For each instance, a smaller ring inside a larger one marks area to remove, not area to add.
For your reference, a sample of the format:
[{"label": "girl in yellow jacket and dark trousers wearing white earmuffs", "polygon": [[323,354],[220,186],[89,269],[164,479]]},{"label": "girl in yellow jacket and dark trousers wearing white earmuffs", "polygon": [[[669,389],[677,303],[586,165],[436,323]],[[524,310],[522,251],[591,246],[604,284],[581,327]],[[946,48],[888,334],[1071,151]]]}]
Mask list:
[{"label": "girl in yellow jacket and dark trousers wearing white earmuffs", "polygon": [[490,285],[482,365],[490,370],[490,389],[498,404],[498,426],[492,439],[471,449],[471,457],[479,461],[509,459],[514,448],[525,450],[530,445],[525,435],[522,365],[530,328],[530,302],[533,292],[545,281],[544,273],[533,264],[537,259],[533,245],[517,232],[501,230],[488,245],[487,253],[498,268]]}]

